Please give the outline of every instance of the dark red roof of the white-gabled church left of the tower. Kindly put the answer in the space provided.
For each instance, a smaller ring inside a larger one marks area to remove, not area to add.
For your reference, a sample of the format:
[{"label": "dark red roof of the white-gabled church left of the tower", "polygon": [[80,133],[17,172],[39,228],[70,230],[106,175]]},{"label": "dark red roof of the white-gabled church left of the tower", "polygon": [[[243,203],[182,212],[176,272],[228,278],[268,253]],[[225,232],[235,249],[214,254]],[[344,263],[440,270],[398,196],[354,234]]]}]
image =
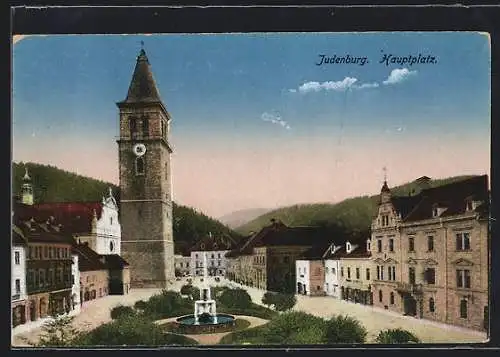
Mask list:
[{"label": "dark red roof of the white-gabled church left of the tower", "polygon": [[97,219],[101,216],[101,202],[60,202],[33,205],[37,217],[47,220],[54,217],[70,233],[90,233],[94,211]]}]

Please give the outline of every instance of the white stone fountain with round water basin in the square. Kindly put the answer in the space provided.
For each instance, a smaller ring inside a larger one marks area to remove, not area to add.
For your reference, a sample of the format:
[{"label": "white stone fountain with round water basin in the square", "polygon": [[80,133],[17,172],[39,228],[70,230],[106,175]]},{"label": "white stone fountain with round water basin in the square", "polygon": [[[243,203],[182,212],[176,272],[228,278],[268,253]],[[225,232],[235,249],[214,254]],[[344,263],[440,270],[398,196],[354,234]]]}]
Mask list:
[{"label": "white stone fountain with round water basin in the square", "polygon": [[203,285],[200,299],[194,302],[194,315],[177,318],[178,327],[187,333],[217,331],[234,325],[234,316],[218,314],[215,300],[212,299],[207,274],[207,253],[203,254]]}]

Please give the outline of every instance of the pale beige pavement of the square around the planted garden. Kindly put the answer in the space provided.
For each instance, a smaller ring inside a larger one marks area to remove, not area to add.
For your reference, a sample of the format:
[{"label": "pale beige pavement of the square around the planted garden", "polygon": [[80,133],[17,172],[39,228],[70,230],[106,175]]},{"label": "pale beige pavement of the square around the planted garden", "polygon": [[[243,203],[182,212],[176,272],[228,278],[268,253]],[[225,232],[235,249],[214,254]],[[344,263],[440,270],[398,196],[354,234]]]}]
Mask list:
[{"label": "pale beige pavement of the square around the planted garden", "polygon": [[[186,280],[175,281],[169,289],[178,291],[186,283]],[[194,285],[201,285],[200,279],[193,279]],[[248,291],[252,300],[261,304],[264,291],[241,286],[227,280],[216,283],[210,279],[210,285],[242,287]],[[160,289],[136,289],[131,290],[125,296],[106,296],[104,298],[86,302],[82,312],[75,318],[74,325],[77,329],[92,329],[111,320],[110,311],[118,304],[133,305],[138,300],[146,300]],[[373,342],[380,330],[387,328],[403,328],[413,332],[426,343],[473,343],[487,340],[486,334],[455,326],[444,325],[428,320],[416,319],[402,316],[390,311],[381,310],[371,306],[349,303],[332,297],[308,297],[298,296],[296,311],[304,311],[316,316],[329,318],[333,315],[343,314],[358,319],[368,330],[368,342]],[[40,329],[29,333],[19,334],[13,337],[13,346],[29,346],[22,340],[36,341]]]}]

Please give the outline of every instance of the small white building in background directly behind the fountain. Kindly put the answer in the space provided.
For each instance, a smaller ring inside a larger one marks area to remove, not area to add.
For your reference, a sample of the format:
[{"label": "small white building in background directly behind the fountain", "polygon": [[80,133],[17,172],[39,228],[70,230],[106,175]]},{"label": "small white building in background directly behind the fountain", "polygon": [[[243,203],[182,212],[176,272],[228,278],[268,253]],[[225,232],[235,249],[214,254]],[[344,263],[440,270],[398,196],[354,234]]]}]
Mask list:
[{"label": "small white building in background directly behind the fountain", "polygon": [[203,253],[207,253],[207,270],[209,276],[224,276],[228,259],[226,253],[233,249],[231,238],[214,238],[212,235],[201,239],[191,249],[191,275],[203,276]]}]

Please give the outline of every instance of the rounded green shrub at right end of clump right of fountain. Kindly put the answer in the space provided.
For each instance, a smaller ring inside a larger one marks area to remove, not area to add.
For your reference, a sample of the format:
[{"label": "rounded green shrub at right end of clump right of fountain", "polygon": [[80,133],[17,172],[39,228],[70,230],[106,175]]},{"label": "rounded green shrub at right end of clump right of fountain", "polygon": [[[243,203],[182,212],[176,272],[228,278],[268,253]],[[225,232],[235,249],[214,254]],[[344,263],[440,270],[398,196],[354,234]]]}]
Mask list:
[{"label": "rounded green shrub at right end of clump right of fountain", "polygon": [[335,316],[326,323],[326,342],[333,343],[363,343],[367,331],[356,319],[349,316]]}]

